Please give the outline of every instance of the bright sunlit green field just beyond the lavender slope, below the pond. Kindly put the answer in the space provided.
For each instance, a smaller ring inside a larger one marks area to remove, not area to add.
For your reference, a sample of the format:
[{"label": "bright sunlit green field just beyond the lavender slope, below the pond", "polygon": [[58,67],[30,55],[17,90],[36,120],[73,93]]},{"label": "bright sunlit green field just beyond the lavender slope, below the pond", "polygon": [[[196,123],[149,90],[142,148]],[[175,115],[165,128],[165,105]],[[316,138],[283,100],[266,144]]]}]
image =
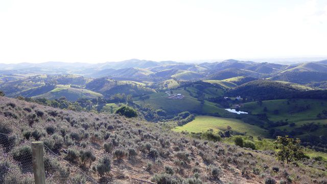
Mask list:
[{"label": "bright sunlit green field just beyond the lavender slope, below the pond", "polygon": [[188,132],[203,132],[208,129],[213,129],[214,131],[226,130],[227,126],[230,126],[232,130],[245,133],[252,136],[268,136],[268,131],[259,128],[254,125],[250,125],[242,122],[238,119],[232,118],[218,118],[211,116],[197,116],[192,122],[185,124],[183,126],[178,126],[174,128],[174,131],[188,131]]}]

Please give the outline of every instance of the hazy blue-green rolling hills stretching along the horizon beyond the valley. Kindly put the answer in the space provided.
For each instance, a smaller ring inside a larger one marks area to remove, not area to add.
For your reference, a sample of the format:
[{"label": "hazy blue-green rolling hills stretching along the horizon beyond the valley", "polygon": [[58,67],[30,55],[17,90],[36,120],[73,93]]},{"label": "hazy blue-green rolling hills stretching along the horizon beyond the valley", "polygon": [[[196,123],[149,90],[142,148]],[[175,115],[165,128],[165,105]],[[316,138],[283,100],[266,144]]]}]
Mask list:
[{"label": "hazy blue-green rolling hills stretching along the horizon beyond the valley", "polygon": [[0,68],[0,90],[8,96],[50,99],[63,94],[71,99],[83,97],[81,94],[88,98],[115,93],[145,95],[190,81],[224,86],[265,79],[327,88],[327,60],[286,65],[235,59],[203,63],[130,59],[98,64],[0,64]]}]

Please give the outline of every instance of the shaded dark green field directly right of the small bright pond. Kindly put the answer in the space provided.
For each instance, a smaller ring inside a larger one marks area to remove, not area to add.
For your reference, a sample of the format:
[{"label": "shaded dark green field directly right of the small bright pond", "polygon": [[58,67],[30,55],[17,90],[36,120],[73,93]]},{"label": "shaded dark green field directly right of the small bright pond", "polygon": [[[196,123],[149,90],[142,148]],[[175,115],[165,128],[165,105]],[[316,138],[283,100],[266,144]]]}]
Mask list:
[{"label": "shaded dark green field directly right of the small bright pond", "polygon": [[[309,108],[306,107],[309,105]],[[264,107],[267,111],[264,112]],[[258,102],[244,103],[240,108],[242,111],[252,114],[266,113],[271,121],[281,121],[288,119],[289,122],[299,122],[307,120],[316,120],[317,114],[327,109],[326,100],[315,99],[294,99],[294,100],[267,100],[260,106]],[[274,110],[278,110],[275,114]]]}]

